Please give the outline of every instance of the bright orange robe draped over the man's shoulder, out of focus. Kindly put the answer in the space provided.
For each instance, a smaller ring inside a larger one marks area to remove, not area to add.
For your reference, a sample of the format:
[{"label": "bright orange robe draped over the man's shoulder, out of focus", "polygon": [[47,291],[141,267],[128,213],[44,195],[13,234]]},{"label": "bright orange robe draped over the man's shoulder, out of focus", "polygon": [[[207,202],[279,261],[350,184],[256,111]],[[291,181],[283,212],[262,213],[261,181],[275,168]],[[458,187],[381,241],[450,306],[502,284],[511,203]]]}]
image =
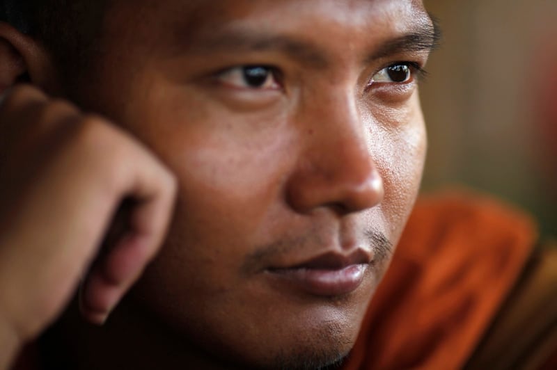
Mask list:
[{"label": "bright orange robe draped over the man's shoulder, out of focus", "polygon": [[536,240],[528,216],[493,200],[418,200],[343,369],[464,367]]}]

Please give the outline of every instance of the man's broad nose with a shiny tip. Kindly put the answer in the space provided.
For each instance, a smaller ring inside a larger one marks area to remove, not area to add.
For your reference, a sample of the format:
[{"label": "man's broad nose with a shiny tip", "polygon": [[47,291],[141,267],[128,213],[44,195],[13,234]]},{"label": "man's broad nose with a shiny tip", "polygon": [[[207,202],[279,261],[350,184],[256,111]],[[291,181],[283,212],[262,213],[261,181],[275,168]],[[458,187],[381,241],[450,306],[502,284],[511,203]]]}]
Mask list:
[{"label": "man's broad nose with a shiny tip", "polygon": [[304,214],[320,207],[340,214],[375,207],[383,181],[355,99],[337,95],[310,105],[297,117],[302,149],[287,182],[290,207]]}]

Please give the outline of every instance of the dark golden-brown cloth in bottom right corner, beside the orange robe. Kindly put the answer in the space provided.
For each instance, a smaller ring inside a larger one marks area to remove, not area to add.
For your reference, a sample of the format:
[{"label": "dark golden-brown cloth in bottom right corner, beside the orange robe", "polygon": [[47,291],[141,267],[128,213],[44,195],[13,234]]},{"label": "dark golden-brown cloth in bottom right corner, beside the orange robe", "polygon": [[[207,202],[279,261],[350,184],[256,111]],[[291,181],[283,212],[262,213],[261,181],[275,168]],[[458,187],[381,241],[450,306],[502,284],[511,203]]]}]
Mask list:
[{"label": "dark golden-brown cloth in bottom right corner, beside the orange robe", "polygon": [[557,243],[535,249],[467,368],[557,368]]}]

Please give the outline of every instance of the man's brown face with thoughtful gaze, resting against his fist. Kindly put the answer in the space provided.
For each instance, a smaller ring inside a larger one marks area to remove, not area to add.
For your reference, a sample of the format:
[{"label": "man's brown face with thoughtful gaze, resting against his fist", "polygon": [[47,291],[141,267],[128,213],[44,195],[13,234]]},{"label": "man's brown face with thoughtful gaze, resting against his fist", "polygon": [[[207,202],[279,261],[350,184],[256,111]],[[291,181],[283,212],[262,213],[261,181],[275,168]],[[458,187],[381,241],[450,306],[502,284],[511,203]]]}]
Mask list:
[{"label": "man's brown face with thoughtful gaze, resting against his fist", "polygon": [[141,305],[225,360],[345,355],[421,179],[421,3],[115,1],[104,32],[72,94],[180,184]]}]

